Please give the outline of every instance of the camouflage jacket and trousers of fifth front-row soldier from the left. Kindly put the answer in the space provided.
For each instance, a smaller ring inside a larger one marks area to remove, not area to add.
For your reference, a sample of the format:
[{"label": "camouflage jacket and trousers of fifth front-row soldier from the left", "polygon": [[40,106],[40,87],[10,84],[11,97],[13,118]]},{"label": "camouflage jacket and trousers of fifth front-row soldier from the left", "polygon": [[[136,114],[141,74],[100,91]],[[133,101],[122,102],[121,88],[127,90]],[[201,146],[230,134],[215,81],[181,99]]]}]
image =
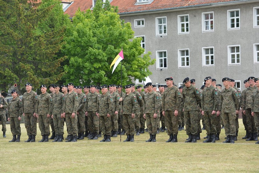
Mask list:
[{"label": "camouflage jacket and trousers of fifth front-row soldier from the left", "polygon": [[[75,91],[67,93],[65,96],[62,112],[66,116],[66,124],[68,128],[68,135],[77,135],[77,108],[78,108],[78,95]],[[75,118],[72,118],[72,113],[75,113]]]}]

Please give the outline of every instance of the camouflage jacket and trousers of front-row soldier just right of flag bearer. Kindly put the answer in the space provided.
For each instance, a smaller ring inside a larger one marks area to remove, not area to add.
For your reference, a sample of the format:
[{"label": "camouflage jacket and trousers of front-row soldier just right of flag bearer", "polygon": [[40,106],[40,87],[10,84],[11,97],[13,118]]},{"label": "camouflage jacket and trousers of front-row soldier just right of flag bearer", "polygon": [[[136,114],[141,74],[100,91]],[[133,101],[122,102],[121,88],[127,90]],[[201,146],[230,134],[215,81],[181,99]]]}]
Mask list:
[{"label": "camouflage jacket and trousers of front-row soldier just right of flag bearer", "polygon": [[146,114],[146,126],[148,133],[152,135],[157,134],[157,118],[154,118],[154,113],[159,113],[159,95],[152,91],[146,93],[144,97],[144,113]]}]

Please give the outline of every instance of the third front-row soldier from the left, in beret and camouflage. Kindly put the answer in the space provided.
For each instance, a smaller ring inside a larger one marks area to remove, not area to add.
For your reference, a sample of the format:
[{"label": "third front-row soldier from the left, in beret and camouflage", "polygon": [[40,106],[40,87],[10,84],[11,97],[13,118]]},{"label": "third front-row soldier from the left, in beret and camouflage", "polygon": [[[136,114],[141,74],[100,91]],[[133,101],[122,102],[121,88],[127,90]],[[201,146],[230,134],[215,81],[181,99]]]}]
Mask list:
[{"label": "third front-row soldier from the left, in beret and camouflage", "polygon": [[42,139],[39,142],[49,142],[49,122],[51,115],[52,97],[47,93],[47,86],[41,85],[41,94],[38,97],[36,116],[39,120],[39,129]]}]

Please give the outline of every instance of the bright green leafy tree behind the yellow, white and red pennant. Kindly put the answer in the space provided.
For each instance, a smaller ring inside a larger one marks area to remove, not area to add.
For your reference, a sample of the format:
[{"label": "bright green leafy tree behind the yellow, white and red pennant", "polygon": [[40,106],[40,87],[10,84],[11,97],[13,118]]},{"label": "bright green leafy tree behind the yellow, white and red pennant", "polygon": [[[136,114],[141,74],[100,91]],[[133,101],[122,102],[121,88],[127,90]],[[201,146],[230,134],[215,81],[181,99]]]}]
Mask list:
[{"label": "bright green leafy tree behind the yellow, white and red pennant", "polygon": [[81,12],[73,17],[73,31],[64,40],[63,52],[69,58],[65,65],[67,82],[78,84],[120,84],[121,64],[112,74],[110,65],[123,48],[122,60],[123,84],[133,79],[143,80],[151,72],[149,65],[151,52],[143,54],[141,38],[134,38],[129,22],[121,21],[117,7],[108,1],[97,1],[94,9]]}]

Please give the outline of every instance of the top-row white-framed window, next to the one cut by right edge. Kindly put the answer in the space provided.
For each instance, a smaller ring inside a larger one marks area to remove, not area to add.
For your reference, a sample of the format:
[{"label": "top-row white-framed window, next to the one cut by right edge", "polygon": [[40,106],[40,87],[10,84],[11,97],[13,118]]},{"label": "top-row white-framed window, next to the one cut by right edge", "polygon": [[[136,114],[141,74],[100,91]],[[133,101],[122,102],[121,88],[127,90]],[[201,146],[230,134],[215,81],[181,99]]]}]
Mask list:
[{"label": "top-row white-framed window, next to the one cut by right edge", "polygon": [[228,10],[228,30],[240,28],[239,9]]}]

